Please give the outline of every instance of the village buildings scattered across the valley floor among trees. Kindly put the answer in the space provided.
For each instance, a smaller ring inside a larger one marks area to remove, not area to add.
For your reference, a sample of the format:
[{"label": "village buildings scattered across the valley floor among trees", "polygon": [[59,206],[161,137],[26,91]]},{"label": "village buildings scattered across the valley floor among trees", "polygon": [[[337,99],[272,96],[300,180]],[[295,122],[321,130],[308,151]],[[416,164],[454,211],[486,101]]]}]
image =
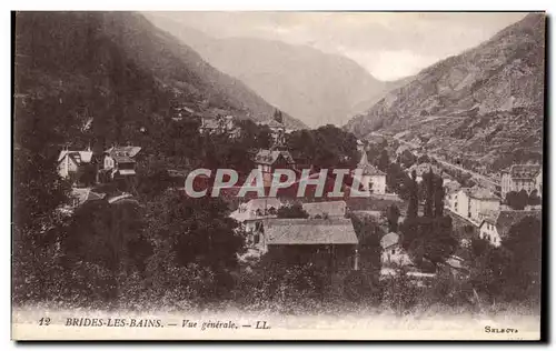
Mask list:
[{"label": "village buildings scattered across the valley floor among trees", "polygon": [[[236,118],[229,114],[212,119],[201,118],[199,133],[238,138],[241,130],[236,122]],[[307,166],[296,162],[288,150],[286,140],[291,130],[285,127],[280,113],[275,112],[272,118],[259,122],[258,126],[269,128],[271,146],[246,157],[250,157],[254,166],[262,172],[265,187],[270,185],[277,169],[290,169],[300,174]],[[311,187],[309,192],[312,193],[297,198],[295,193],[298,181],[289,189],[280,189],[275,197],[230,200],[229,217],[240,223],[242,232],[247,233],[247,250],[239,260],[249,262],[267,253],[280,252],[281,257],[288,258],[287,262],[294,264],[309,262],[316,255],[324,254],[328,269],[334,272],[349,274],[370,264],[375,265],[375,271],[378,271],[376,274],[381,280],[404,273],[423,284],[440,271],[456,278],[468,275],[471,240],[484,239],[493,247],[499,247],[510,228],[520,220],[526,217],[540,219],[543,170],[539,164],[512,166],[502,173],[499,187],[493,191],[492,188],[481,187],[480,182],[473,187],[461,184],[456,177],[445,171],[441,163],[434,162],[417,151],[417,156],[414,156],[415,162],[404,167],[403,171],[417,187],[423,185],[427,174],[441,178],[443,211],[451,218],[453,232],[457,240],[456,248],[443,258],[443,262],[435,262],[433,269],[424,269],[423,264],[414,262],[414,254],[403,244],[404,235],[399,228],[408,215],[407,204],[395,189],[387,185],[389,174],[379,170],[376,162],[374,164],[369,161],[368,151],[373,147],[369,140],[357,140],[358,161],[349,174],[351,181],[356,177],[363,190],[367,191],[364,199],[347,195],[319,198],[315,197],[316,189]],[[63,207],[63,211],[71,213],[73,209],[91,201],[115,203],[122,199],[132,199],[141,151],[140,146],[131,144],[113,144],[101,156],[93,156],[90,149],[61,150],[58,158],[59,174],[73,184],[73,200]],[[390,154],[386,152],[388,163],[404,164],[400,158],[407,156],[407,152],[411,150],[406,146],[391,149]],[[172,173],[172,170],[169,170],[169,173]],[[318,176],[318,170],[311,169],[309,174],[309,178]],[[117,190],[110,191],[109,194],[103,193],[102,189],[107,185]],[[348,184],[344,184],[342,189],[347,187]],[[331,191],[332,184],[327,183],[325,188]],[[183,191],[183,188],[178,187],[175,190]],[[227,191],[229,197],[229,192],[234,190],[225,189],[225,192]],[[424,200],[419,200],[419,205],[423,203]],[[393,224],[389,218],[393,211],[397,213],[394,219],[396,224]],[[361,257],[365,251],[364,238],[360,234],[361,229],[356,230],[355,221],[370,222],[376,227],[374,235],[378,237],[380,249],[378,270],[376,260]],[[284,252],[288,253],[284,255]]]}]

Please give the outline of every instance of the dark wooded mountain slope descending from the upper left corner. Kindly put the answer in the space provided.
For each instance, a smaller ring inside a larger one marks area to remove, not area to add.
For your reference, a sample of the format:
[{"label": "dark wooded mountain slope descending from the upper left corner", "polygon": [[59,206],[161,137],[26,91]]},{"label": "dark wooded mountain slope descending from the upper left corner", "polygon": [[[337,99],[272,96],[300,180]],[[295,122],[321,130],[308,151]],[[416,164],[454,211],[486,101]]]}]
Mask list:
[{"label": "dark wooded mountain slope descending from the upper left corner", "polygon": [[[23,106],[40,101],[50,110],[44,113],[83,123],[92,118],[106,142],[137,139],[139,129],[170,119],[179,106],[256,121],[275,111],[135,12],[18,12],[14,64]],[[284,117],[291,128],[306,127]]]}]

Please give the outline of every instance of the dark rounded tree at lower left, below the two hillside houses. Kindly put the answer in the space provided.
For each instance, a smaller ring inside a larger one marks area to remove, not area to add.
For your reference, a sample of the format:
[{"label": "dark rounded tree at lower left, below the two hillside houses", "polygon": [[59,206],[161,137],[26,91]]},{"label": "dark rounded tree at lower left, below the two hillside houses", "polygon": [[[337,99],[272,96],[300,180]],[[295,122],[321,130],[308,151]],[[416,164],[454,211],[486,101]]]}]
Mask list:
[{"label": "dark rounded tree at lower left, below the two hillside houses", "polygon": [[77,273],[76,290],[113,300],[121,293],[121,277],[145,272],[152,248],[143,233],[139,203],[122,200],[86,202],[78,208],[61,250],[64,265]]}]

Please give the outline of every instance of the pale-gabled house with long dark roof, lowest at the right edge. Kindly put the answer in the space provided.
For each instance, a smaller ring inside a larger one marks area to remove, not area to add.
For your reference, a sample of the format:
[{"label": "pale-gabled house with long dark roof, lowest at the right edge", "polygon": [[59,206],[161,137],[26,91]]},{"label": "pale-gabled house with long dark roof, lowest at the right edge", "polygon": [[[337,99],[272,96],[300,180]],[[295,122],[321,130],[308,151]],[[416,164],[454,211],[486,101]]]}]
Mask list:
[{"label": "pale-gabled house with long dark roof, lowest at the right edge", "polygon": [[529,215],[540,220],[542,212],[504,210],[496,217],[485,218],[479,225],[479,238],[486,239],[493,245],[498,247],[507,238],[509,229]]}]

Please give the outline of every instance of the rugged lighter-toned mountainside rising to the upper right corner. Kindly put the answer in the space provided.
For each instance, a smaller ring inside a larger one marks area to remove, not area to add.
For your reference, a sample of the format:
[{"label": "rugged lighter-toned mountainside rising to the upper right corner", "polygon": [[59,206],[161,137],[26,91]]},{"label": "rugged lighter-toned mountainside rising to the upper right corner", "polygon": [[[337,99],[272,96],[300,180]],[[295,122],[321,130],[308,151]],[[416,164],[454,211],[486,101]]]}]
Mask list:
[{"label": "rugged lighter-toned mountainside rising to the upper right corner", "polygon": [[545,14],[529,13],[488,41],[423,70],[346,128],[397,134],[494,170],[539,159]]}]

